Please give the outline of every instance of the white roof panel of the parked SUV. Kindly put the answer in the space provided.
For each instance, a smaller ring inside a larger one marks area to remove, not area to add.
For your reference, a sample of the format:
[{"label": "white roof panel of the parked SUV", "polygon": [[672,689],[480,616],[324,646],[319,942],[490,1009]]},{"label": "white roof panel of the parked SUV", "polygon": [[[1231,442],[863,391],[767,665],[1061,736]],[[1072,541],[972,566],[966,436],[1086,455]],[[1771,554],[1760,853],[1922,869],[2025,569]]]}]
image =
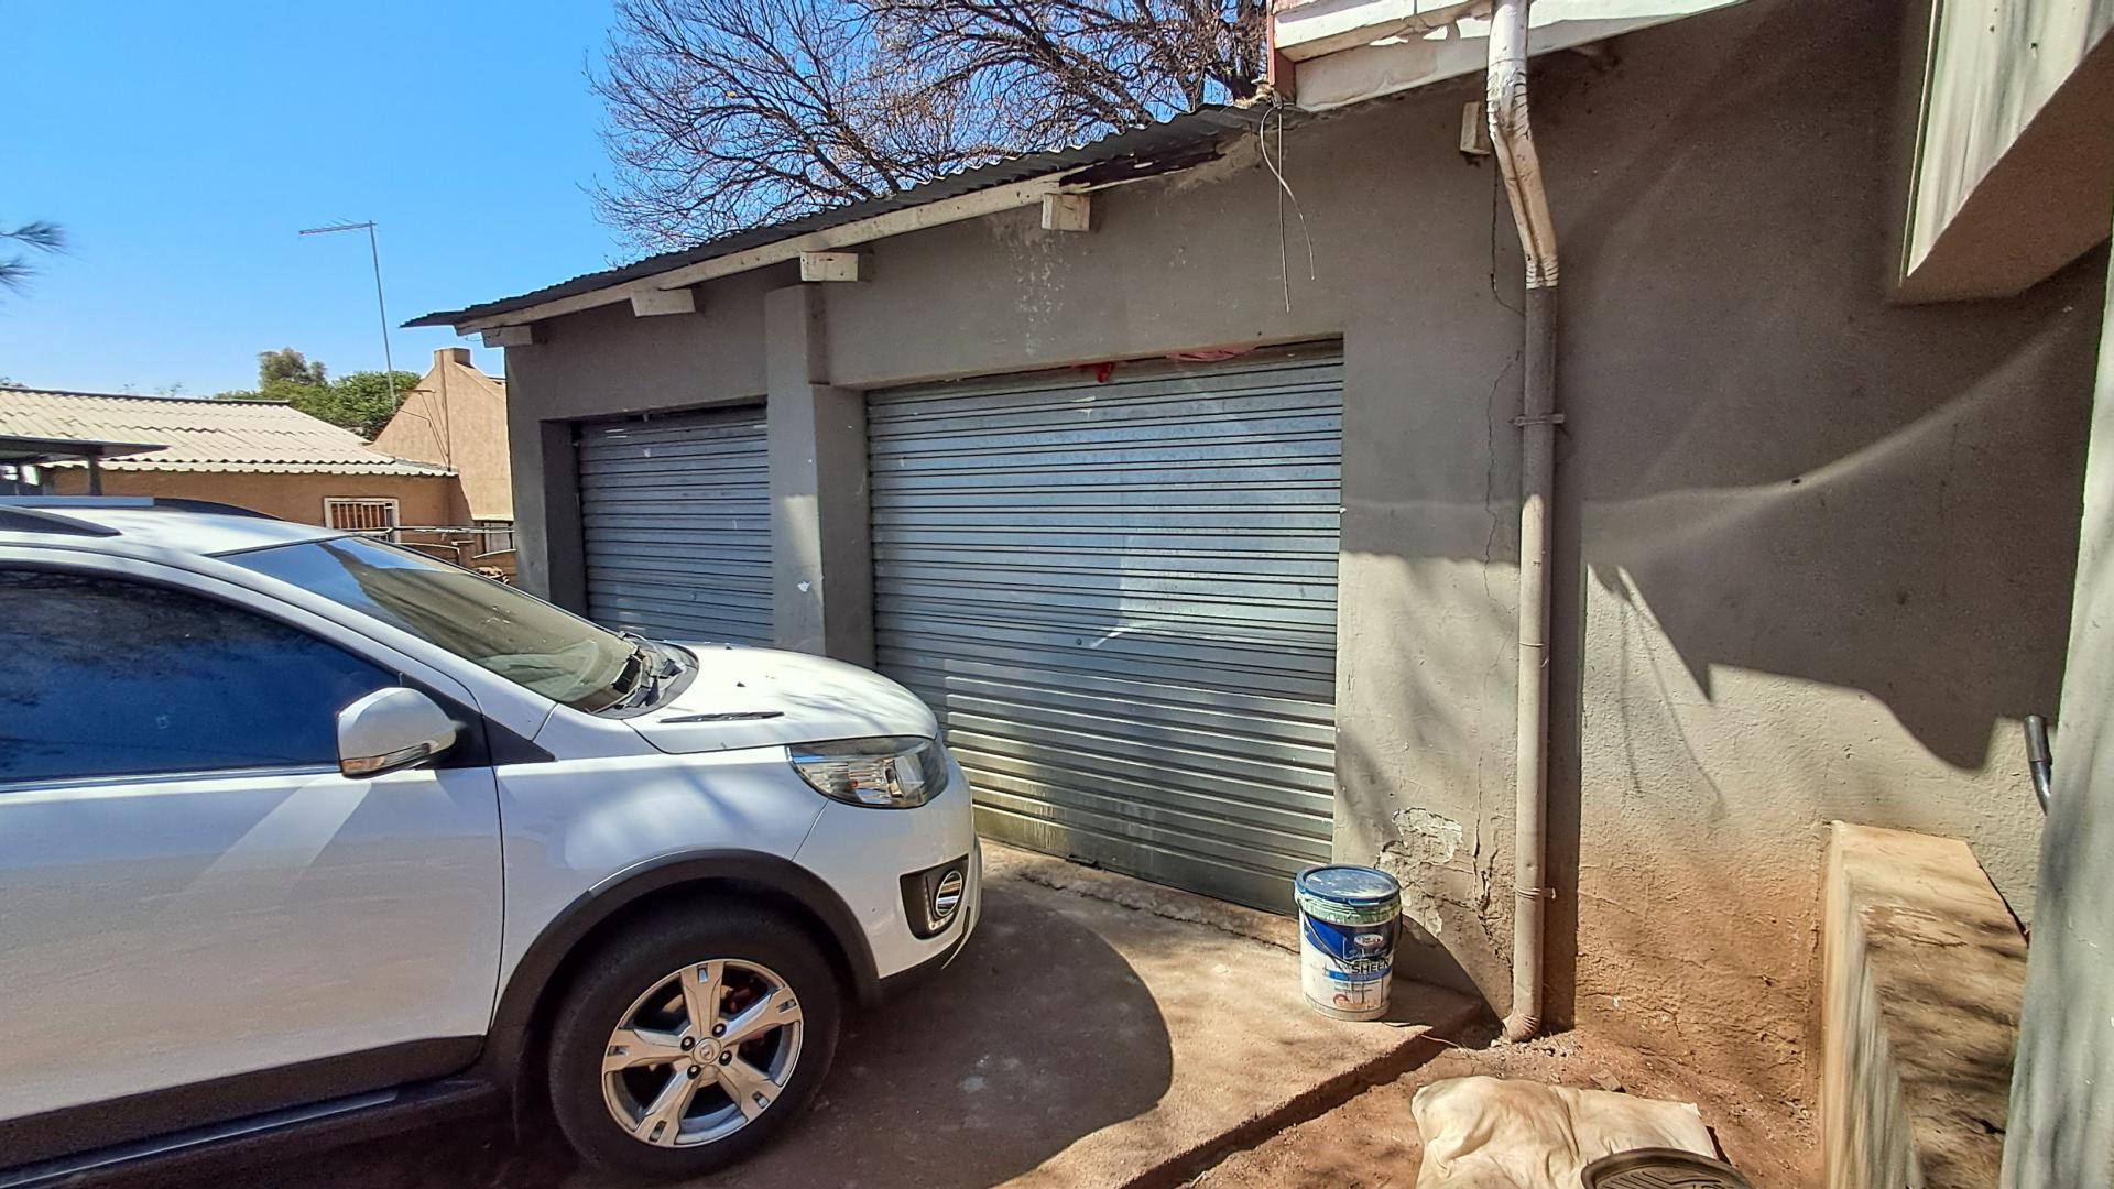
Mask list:
[{"label": "white roof panel of the parked SUV", "polygon": [[93,550],[95,542],[125,542],[211,556],[342,535],[347,533],[338,529],[296,525],[233,506],[93,495],[0,499],[0,544]]}]

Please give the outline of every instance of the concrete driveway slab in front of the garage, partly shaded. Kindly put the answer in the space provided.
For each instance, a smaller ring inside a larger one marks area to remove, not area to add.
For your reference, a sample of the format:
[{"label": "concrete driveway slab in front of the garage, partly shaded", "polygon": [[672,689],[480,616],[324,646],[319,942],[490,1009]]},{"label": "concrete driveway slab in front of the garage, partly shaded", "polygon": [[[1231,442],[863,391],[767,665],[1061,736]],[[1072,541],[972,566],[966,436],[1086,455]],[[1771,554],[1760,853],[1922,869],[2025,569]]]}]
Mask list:
[{"label": "concrete driveway slab in front of the garage, partly shaded", "polygon": [[[1393,1077],[1476,1007],[1397,984],[1391,1024],[1298,999],[1292,925],[987,846],[985,918],[951,969],[850,1022],[816,1109],[704,1185],[1135,1185]],[[243,1170],[271,1187],[600,1189],[556,1134],[501,1119]]]}]

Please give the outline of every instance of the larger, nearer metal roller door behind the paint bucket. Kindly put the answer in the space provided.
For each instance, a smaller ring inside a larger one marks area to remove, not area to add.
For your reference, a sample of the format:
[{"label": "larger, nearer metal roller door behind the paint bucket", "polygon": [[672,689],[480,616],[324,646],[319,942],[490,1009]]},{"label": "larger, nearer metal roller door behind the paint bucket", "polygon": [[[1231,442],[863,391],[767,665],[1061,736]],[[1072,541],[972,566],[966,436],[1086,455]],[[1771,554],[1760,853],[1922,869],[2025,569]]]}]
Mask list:
[{"label": "larger, nearer metal roller door behind the paint bucket", "polygon": [[873,394],[875,643],[983,834],[1258,908],[1330,859],[1340,358]]}]

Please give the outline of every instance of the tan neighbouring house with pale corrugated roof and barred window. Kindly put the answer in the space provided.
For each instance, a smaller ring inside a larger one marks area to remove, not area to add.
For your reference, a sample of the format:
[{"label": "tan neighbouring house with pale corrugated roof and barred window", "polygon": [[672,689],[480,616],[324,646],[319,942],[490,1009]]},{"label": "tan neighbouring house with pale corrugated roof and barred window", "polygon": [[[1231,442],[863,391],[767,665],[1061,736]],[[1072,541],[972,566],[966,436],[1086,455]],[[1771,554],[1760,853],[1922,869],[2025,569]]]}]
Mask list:
[{"label": "tan neighbouring house with pale corrugated roof and barred window", "polygon": [[47,461],[44,489],[59,495],[214,499],[368,531],[467,518],[452,470],[389,457],[275,400],[0,389],[0,436],[154,446],[101,457],[93,472],[87,459]]}]

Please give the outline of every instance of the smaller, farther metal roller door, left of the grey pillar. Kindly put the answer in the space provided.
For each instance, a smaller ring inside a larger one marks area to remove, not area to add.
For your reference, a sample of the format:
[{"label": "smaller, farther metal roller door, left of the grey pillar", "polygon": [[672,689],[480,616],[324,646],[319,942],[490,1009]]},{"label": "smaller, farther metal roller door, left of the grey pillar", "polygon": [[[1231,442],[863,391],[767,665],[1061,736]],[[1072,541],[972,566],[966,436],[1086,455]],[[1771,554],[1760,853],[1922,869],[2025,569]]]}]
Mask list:
[{"label": "smaller, farther metal roller door, left of the grey pillar", "polygon": [[586,421],[577,444],[588,618],[772,643],[763,408]]}]

